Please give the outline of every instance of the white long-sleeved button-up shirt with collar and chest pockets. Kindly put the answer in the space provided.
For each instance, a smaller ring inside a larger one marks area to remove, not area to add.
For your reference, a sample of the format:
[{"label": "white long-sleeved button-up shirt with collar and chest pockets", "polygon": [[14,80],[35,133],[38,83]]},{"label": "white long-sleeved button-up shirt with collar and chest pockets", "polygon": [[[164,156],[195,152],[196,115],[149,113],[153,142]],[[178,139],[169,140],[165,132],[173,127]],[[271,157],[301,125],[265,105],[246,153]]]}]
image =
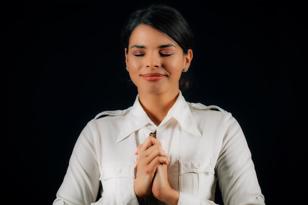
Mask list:
[{"label": "white long-sleeved button-up shirt with collar and chest pockets", "polygon": [[239,123],[218,106],[186,102],[181,91],[158,126],[138,95],[125,110],[96,115],[76,141],[53,205],[138,205],[134,153],[154,131],[170,157],[178,205],[215,205],[217,179],[225,205],[265,205]]}]

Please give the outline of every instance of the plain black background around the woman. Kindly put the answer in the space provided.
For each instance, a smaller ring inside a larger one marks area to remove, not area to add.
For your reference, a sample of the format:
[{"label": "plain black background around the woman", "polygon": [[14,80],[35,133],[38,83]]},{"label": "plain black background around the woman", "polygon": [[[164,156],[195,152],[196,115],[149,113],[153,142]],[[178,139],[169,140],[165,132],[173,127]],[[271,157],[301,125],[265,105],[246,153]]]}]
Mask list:
[{"label": "plain black background around the woman", "polygon": [[239,121],[267,205],[304,203],[306,10],[266,0],[1,4],[4,199],[51,205],[86,123],[132,105],[120,33],[151,2],[178,8],[195,35],[186,100]]}]

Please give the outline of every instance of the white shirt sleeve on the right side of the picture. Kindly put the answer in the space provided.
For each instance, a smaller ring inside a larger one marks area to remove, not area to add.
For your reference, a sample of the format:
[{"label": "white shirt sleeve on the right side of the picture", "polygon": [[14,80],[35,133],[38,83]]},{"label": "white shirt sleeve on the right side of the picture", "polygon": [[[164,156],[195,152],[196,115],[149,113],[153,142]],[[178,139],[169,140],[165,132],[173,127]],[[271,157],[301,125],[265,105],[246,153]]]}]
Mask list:
[{"label": "white shirt sleeve on the right side of the picture", "polygon": [[225,204],[265,205],[246,137],[231,113],[225,116],[216,173]]}]

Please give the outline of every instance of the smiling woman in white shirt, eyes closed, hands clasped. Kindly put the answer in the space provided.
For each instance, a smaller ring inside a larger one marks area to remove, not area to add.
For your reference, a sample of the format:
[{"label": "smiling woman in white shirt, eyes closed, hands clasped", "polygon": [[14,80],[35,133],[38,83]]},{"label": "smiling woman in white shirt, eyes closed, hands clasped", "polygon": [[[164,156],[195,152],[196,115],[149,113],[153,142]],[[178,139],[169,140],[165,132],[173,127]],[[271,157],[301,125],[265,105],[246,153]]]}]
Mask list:
[{"label": "smiling woman in white shirt, eyes closed, hands clasped", "polygon": [[264,205],[236,119],[182,95],[193,58],[183,16],[165,5],[138,10],[123,43],[136,100],[83,129],[53,205],[215,205],[217,179],[224,204]]}]

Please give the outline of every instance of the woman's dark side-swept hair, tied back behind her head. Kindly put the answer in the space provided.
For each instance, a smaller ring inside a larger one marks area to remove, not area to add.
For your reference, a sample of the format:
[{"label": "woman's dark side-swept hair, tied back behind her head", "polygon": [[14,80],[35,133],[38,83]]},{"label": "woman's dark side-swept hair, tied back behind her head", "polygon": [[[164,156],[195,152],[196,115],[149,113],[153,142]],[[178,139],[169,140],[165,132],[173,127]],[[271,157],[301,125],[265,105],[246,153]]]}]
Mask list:
[{"label": "woman's dark side-swept hair, tied back behind her head", "polygon": [[[135,11],[128,19],[122,31],[123,47],[127,48],[132,31],[140,25],[151,26],[174,40],[187,54],[192,49],[193,35],[182,14],[173,7],[164,4],[153,4],[148,8]],[[188,73],[182,73],[179,81],[181,90],[189,87]]]}]

